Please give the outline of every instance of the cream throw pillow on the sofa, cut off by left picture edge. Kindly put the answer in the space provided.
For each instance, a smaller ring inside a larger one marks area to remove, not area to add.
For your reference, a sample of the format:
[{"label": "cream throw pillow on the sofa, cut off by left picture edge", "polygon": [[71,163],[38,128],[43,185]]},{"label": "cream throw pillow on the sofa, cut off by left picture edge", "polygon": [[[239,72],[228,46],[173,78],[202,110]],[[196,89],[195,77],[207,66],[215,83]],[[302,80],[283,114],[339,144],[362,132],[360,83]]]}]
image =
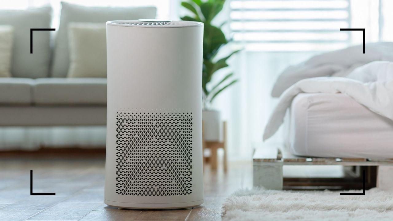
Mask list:
[{"label": "cream throw pillow on the sofa, cut off by left picture edge", "polygon": [[11,77],[13,27],[0,25],[0,77]]}]

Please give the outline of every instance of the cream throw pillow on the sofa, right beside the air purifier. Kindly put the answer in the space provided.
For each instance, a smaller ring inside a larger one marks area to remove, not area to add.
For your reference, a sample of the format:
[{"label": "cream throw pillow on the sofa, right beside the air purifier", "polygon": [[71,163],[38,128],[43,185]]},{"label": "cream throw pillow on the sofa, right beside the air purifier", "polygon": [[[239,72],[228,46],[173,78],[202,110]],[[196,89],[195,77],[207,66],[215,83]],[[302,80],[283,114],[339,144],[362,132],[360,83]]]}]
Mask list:
[{"label": "cream throw pillow on the sofa, right beside the air purifier", "polygon": [[104,23],[68,26],[70,68],[67,77],[107,77],[107,32]]}]

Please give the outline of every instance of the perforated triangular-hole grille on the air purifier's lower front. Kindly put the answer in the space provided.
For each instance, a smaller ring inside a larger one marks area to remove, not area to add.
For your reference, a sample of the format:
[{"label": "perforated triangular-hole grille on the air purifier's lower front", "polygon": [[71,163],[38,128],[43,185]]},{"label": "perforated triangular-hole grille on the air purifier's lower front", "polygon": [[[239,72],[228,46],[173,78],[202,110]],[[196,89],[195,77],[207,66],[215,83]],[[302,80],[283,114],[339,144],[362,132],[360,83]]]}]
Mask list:
[{"label": "perforated triangular-hole grille on the air purifier's lower front", "polygon": [[192,119],[191,112],[118,111],[116,193],[191,194]]}]

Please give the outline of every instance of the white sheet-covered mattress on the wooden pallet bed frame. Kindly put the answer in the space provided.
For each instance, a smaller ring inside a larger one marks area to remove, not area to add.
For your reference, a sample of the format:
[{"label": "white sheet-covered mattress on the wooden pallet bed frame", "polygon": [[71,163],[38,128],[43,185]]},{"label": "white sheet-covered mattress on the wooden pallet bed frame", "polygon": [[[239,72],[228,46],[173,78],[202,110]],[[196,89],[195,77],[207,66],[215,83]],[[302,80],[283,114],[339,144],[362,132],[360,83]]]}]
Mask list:
[{"label": "white sheet-covered mattress on the wooden pallet bed frame", "polygon": [[393,158],[393,122],[344,94],[299,94],[287,146],[310,157]]}]

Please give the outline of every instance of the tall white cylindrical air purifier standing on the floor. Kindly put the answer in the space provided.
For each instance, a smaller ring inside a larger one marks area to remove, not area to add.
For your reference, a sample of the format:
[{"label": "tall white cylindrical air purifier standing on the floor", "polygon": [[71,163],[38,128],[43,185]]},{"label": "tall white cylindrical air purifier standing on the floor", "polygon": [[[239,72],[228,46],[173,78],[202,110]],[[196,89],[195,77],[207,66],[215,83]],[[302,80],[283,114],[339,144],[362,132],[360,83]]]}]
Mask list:
[{"label": "tall white cylindrical air purifier standing on the floor", "polygon": [[203,203],[203,23],[107,22],[105,203]]}]

